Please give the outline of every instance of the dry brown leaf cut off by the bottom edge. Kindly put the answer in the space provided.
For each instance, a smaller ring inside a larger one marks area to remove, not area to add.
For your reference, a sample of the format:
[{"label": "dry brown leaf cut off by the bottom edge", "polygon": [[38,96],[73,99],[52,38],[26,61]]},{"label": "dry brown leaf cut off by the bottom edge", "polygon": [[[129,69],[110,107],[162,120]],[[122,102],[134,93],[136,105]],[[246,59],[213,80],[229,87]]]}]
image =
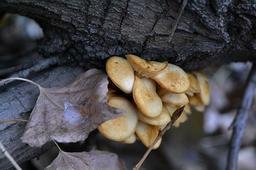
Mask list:
[{"label": "dry brown leaf cut off by the bottom edge", "polygon": [[[58,146],[58,145],[57,145]],[[59,148],[59,146],[58,146]],[[106,151],[64,152],[59,148],[59,155],[44,170],[125,170],[122,159],[116,153]]]}]

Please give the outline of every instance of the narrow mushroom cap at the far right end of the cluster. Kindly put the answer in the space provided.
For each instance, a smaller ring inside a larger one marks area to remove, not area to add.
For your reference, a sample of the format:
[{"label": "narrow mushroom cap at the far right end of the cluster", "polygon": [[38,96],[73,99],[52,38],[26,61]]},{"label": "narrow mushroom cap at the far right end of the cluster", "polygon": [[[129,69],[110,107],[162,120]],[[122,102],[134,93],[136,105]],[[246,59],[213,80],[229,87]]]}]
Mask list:
[{"label": "narrow mushroom cap at the far right end of the cluster", "polygon": [[[197,75],[197,79],[199,81],[200,89],[201,89],[201,92],[199,93],[201,101],[205,105],[208,105],[210,103],[210,93],[211,93],[210,86],[201,75]],[[196,95],[198,95],[198,94],[196,94]]]}]

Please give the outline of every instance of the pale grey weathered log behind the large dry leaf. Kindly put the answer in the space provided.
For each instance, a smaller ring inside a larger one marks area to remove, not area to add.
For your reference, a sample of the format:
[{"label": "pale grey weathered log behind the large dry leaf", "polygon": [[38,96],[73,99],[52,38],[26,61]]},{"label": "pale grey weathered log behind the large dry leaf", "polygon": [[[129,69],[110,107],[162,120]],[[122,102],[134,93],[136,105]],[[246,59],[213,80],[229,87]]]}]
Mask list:
[{"label": "pale grey weathered log behind the large dry leaf", "polygon": [[[41,66],[48,65],[41,60]],[[49,66],[50,67],[50,66]],[[73,81],[77,75],[84,72],[81,67],[51,67],[38,69],[27,78],[35,81],[43,87],[58,87]],[[13,118],[28,120],[33,110],[39,89],[28,82],[15,81],[0,86],[0,120]],[[45,152],[52,144],[47,143],[41,148],[29,147],[21,142],[21,135],[25,129],[25,122],[12,122],[0,125],[0,141],[17,161],[22,163]],[[1,154],[0,169],[11,169],[11,163]]]}]

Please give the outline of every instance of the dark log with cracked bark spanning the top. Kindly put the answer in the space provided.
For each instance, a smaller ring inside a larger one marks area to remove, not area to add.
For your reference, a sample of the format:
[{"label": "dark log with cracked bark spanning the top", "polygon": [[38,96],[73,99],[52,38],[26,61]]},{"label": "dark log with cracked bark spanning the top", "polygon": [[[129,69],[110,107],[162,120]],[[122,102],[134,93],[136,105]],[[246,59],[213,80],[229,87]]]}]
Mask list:
[{"label": "dark log with cracked bark spanning the top", "polygon": [[35,19],[43,56],[104,68],[110,56],[132,53],[195,70],[254,60],[256,8],[249,0],[189,1],[171,43],[179,0],[0,0],[0,11]]}]

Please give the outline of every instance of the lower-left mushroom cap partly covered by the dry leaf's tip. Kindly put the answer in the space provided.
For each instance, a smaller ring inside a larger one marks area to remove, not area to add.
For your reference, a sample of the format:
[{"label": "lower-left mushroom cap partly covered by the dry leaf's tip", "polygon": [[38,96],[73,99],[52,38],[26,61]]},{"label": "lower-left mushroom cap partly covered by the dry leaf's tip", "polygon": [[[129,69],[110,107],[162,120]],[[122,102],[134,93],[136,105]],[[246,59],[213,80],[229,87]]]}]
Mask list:
[{"label": "lower-left mushroom cap partly covered by the dry leaf's tip", "polygon": [[108,100],[111,107],[123,109],[126,111],[124,116],[108,120],[102,123],[98,130],[106,138],[122,141],[130,137],[136,130],[138,124],[137,110],[127,99],[122,97],[112,97]]}]

